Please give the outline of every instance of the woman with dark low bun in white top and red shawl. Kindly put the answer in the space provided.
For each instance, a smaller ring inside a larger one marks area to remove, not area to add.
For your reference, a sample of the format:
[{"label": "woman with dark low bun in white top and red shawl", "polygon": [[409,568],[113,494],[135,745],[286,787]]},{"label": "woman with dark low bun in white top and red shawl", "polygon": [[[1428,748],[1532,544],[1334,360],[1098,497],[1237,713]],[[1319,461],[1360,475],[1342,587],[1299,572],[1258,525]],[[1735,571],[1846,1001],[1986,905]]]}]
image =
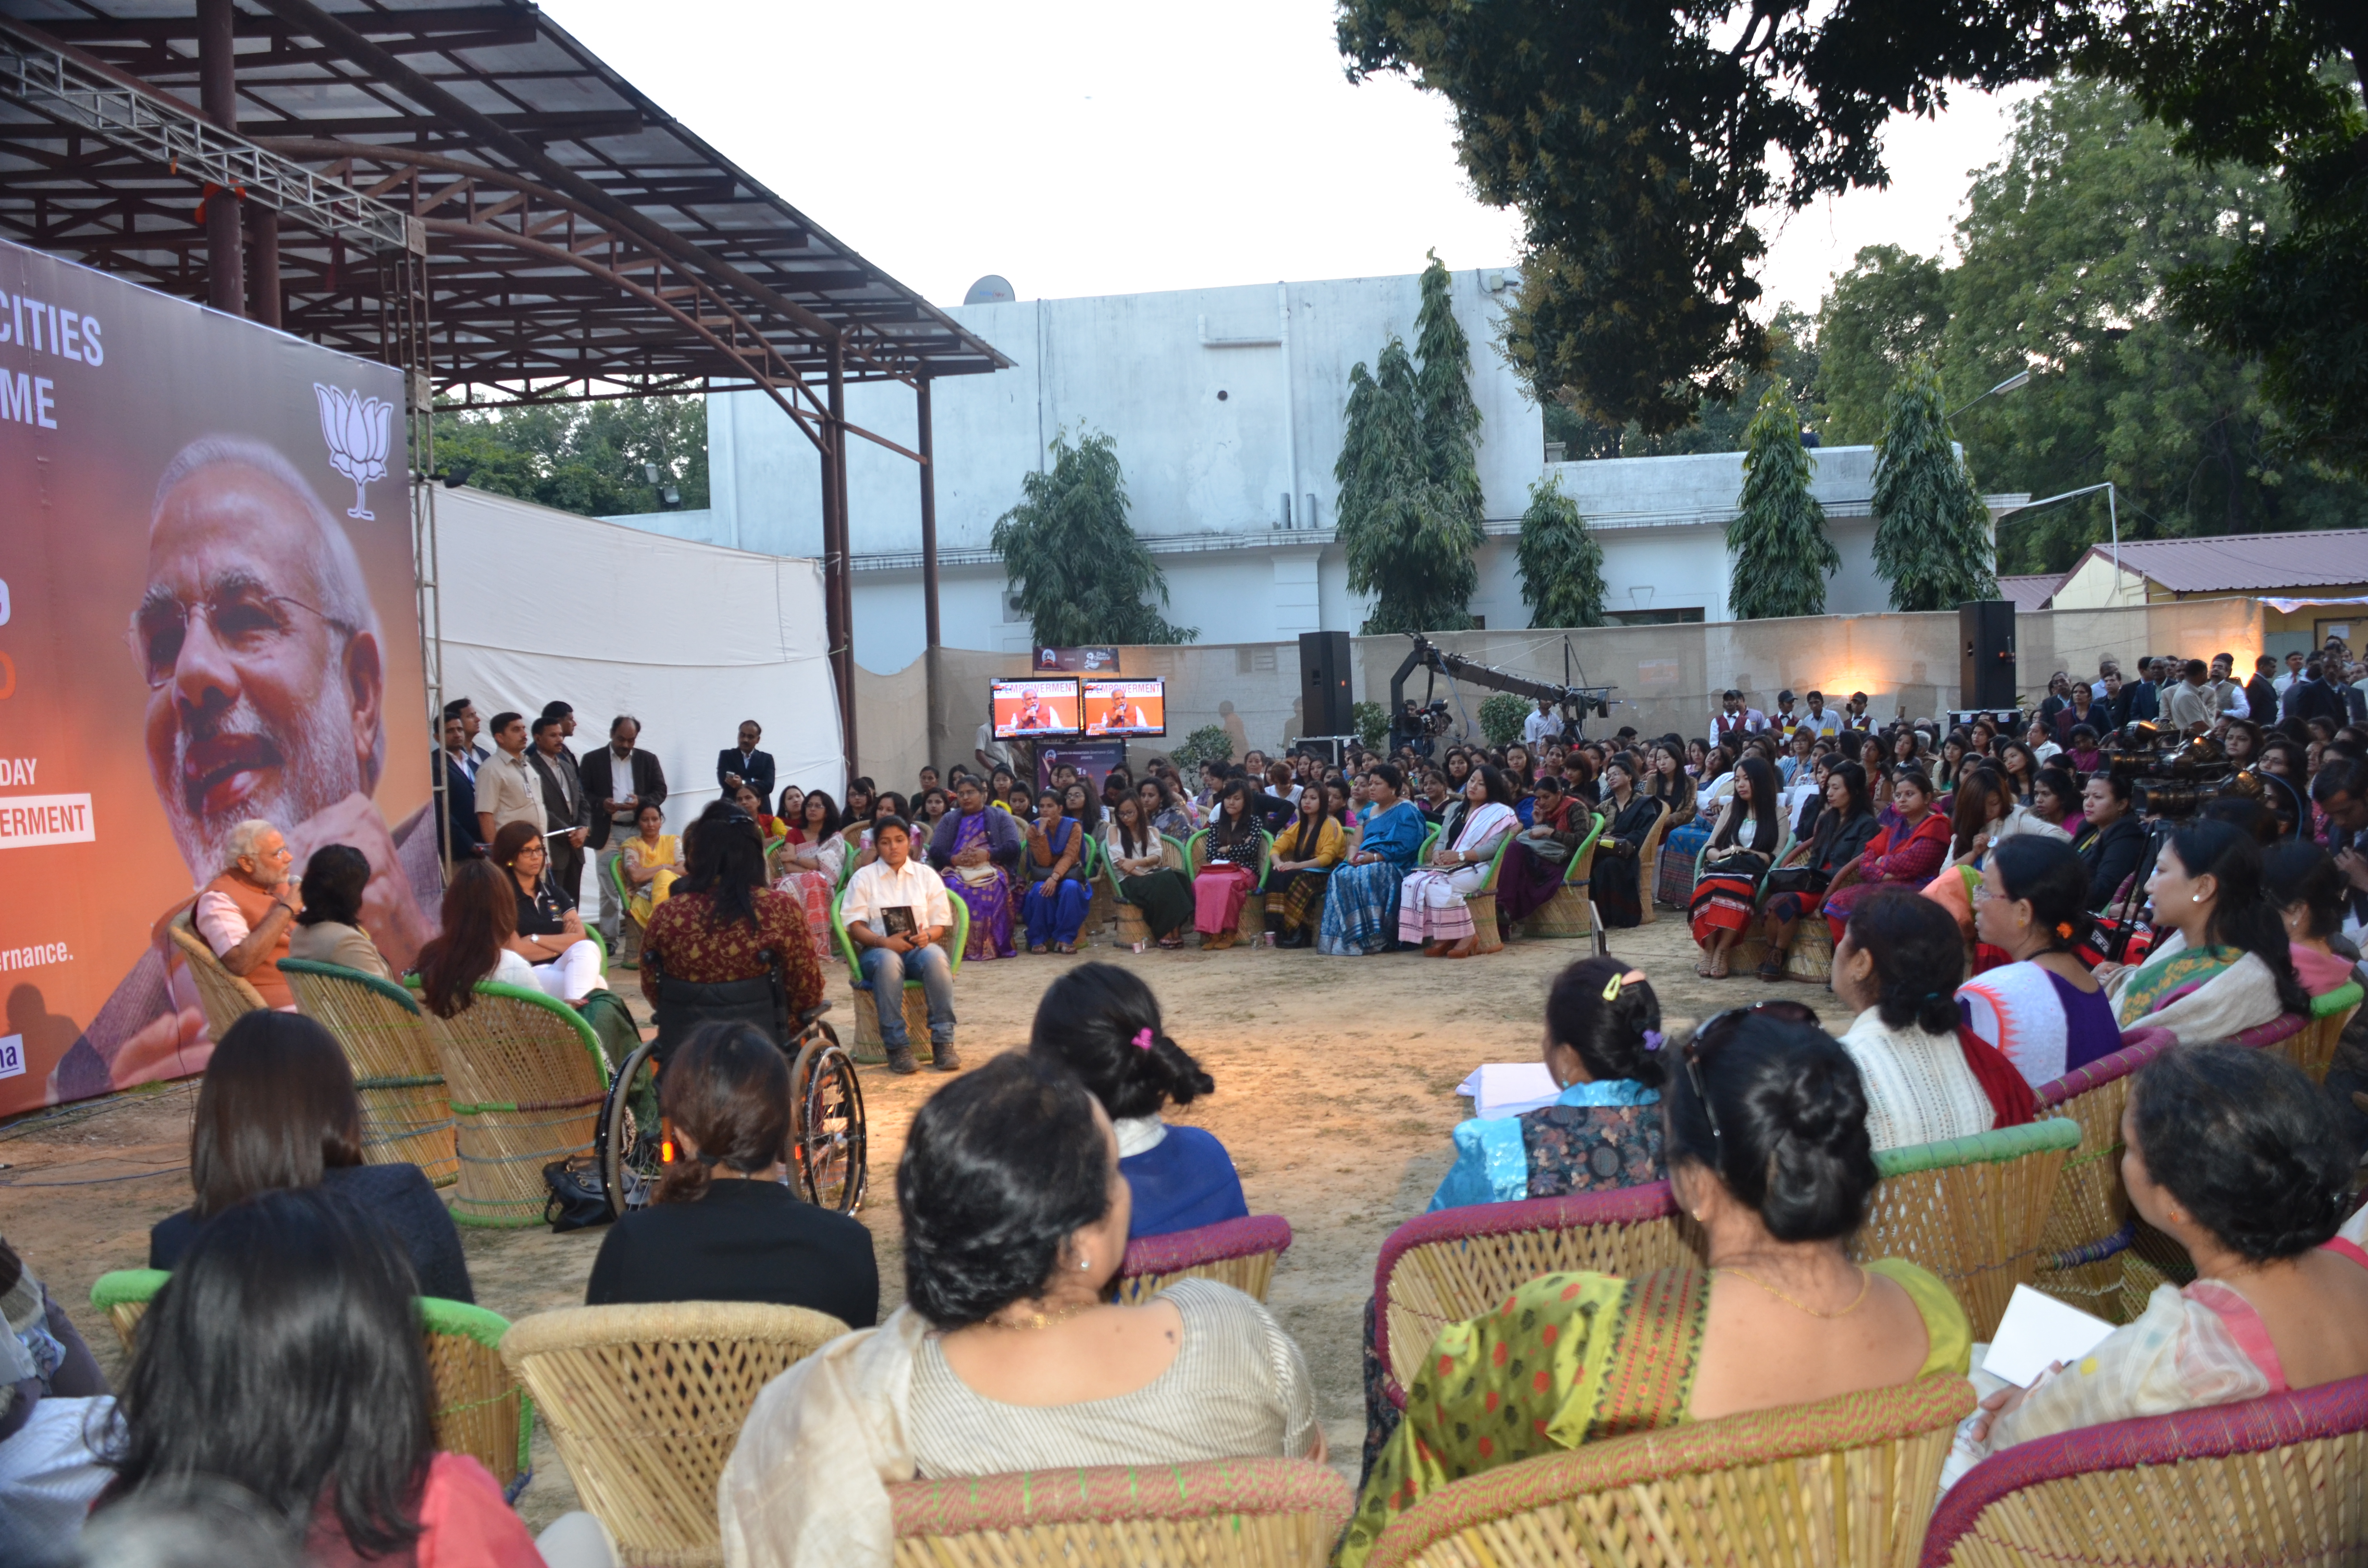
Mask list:
[{"label": "woman with dark low bun in white top and red shawl", "polygon": [[1965,938],[1930,898],[1875,888],[1849,912],[1833,950],[1833,995],[1857,1014],[1842,1049],[1866,1078],[1866,1137],[1875,1149],[1937,1144],[2032,1118],[2029,1085],[2013,1066],[1994,1061],[2020,1090],[2018,1113],[2001,1118],[1994,1085],[1968,1061],[1956,1033],[1963,978]]}]

